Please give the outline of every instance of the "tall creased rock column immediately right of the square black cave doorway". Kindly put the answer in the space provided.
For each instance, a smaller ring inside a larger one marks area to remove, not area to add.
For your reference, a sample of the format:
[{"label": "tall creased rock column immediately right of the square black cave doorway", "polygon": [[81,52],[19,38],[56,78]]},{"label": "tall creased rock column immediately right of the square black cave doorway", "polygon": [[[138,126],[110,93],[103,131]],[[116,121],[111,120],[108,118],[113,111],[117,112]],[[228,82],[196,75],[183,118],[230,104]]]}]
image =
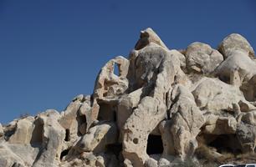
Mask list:
[{"label": "tall creased rock column immediately right of the square black cave doorway", "polygon": [[171,132],[174,150],[183,159],[187,155],[191,156],[197,149],[196,137],[205,120],[193,95],[182,85],[177,85],[172,90],[172,99],[177,101],[170,114],[173,121]]}]

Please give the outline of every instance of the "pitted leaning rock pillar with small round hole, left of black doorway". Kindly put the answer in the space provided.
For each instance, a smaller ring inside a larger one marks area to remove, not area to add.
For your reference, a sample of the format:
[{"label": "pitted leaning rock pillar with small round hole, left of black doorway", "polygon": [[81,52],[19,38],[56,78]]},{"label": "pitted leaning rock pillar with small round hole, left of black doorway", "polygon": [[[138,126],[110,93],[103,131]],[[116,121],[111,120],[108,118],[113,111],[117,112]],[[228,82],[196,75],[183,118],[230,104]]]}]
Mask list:
[{"label": "pitted leaning rock pillar with small round hole, left of black doorway", "polygon": [[159,100],[146,96],[127,119],[124,127],[123,155],[132,165],[143,165],[149,158],[146,154],[147,137],[165,117],[165,106]]}]

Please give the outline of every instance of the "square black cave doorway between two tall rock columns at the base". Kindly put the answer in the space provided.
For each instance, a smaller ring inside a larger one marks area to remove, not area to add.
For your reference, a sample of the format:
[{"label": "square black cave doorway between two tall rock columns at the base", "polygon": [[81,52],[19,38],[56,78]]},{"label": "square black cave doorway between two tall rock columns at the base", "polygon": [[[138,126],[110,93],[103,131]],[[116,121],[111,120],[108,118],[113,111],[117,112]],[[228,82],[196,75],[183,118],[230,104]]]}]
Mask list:
[{"label": "square black cave doorway between two tall rock columns at the base", "polygon": [[161,135],[150,134],[147,139],[146,153],[151,154],[162,154],[163,144]]}]

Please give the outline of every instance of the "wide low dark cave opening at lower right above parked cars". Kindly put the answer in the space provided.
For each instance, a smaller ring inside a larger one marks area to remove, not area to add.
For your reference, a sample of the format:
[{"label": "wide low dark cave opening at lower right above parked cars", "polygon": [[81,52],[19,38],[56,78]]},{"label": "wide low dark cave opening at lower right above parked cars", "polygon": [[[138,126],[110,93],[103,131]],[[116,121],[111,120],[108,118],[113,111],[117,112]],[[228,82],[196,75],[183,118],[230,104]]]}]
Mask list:
[{"label": "wide low dark cave opening at lower right above parked cars", "polygon": [[241,154],[241,146],[235,134],[212,135],[212,141],[207,144],[217,149],[218,153]]}]

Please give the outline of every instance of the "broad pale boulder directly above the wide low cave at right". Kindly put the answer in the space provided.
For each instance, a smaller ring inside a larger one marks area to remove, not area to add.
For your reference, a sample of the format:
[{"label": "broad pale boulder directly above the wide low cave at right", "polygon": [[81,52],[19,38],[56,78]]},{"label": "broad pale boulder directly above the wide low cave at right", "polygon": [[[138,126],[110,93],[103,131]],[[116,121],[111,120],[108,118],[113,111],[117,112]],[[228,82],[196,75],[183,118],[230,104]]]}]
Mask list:
[{"label": "broad pale boulder directly above the wide low cave at right", "polygon": [[192,94],[199,109],[207,112],[220,113],[225,110],[238,114],[255,109],[244,99],[238,87],[223,83],[218,78],[202,78]]}]

